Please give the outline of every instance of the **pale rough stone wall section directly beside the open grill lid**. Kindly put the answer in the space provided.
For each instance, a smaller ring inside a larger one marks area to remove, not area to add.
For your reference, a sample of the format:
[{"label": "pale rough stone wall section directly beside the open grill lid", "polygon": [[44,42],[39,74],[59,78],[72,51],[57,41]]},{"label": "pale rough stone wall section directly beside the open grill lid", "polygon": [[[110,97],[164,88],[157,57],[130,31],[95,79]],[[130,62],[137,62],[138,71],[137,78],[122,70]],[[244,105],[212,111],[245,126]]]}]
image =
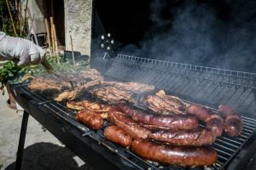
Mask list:
[{"label": "pale rough stone wall section directly beside the open grill lid", "polygon": [[90,55],[91,0],[64,0],[66,50]]}]

